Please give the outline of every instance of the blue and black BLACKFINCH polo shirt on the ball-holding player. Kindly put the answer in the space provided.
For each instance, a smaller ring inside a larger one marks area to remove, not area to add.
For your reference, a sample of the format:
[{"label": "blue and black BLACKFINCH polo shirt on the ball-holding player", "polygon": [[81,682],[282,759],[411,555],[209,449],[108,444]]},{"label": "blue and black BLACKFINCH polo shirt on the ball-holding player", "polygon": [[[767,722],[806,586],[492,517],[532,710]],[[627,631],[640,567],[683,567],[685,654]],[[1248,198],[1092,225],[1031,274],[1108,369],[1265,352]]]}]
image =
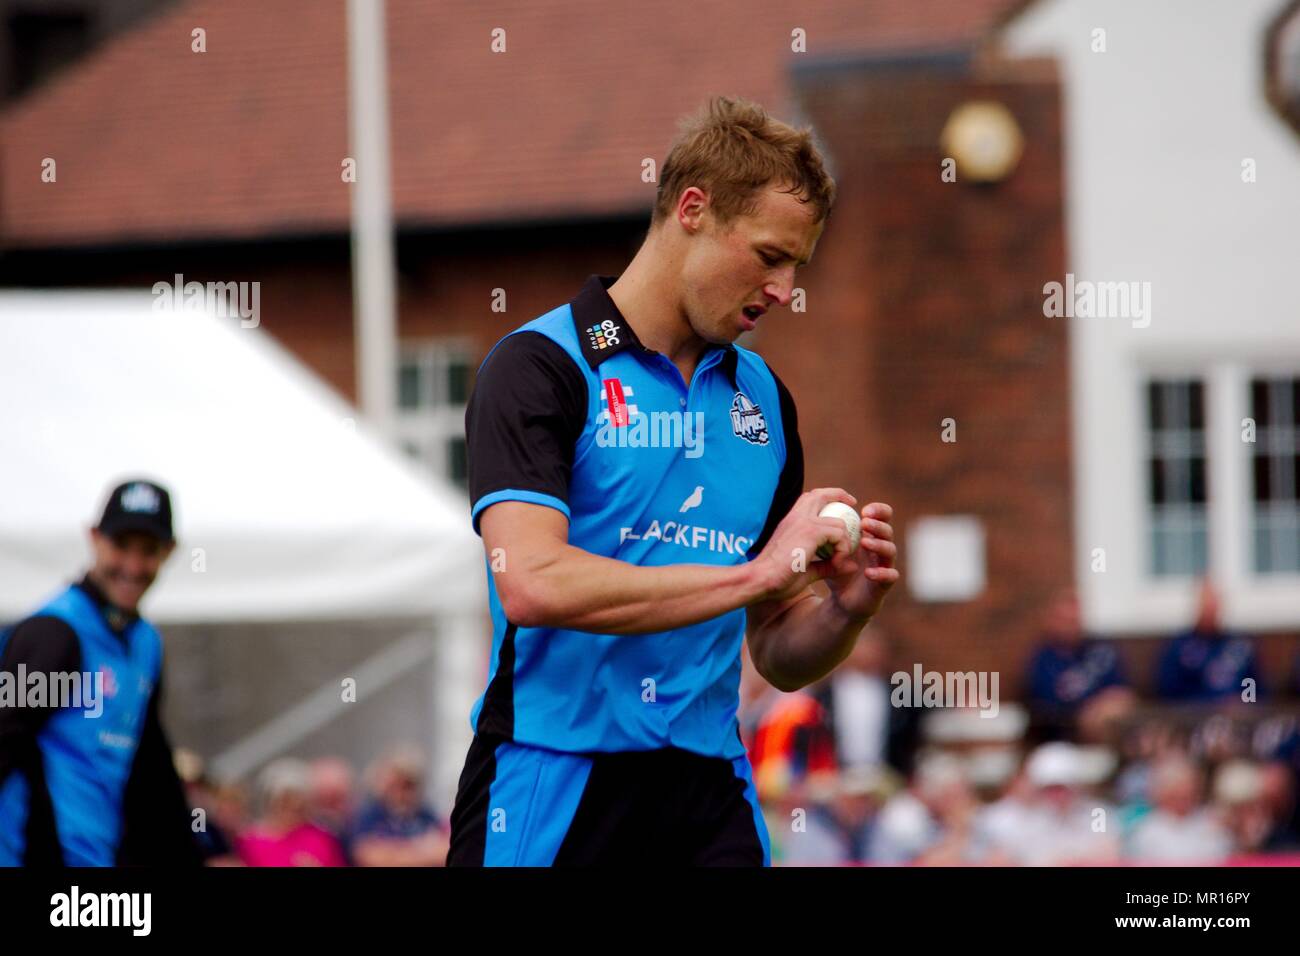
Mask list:
[{"label": "blue and black BLACKFINCH polo shirt on the ball-holding player", "polygon": [[[757,557],[803,486],[794,402],[755,352],[705,352],[689,386],[593,276],[488,354],[465,412],[472,520],[524,501],[569,544],[641,566]],[[485,555],[493,649],[478,734],[590,753],[677,747],[736,758],[745,609],[645,635],[508,620]],[[508,574],[508,559],[507,570]]]}]

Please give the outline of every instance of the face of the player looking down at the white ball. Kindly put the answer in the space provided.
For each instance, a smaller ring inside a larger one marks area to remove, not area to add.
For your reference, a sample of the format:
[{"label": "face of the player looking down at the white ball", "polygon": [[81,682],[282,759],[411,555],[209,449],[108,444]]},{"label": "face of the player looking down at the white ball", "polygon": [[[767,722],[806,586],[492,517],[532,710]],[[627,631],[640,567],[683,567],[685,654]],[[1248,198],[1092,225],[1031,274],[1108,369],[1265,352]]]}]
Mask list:
[{"label": "face of the player looking down at the white ball", "polygon": [[814,224],[812,208],[770,186],[753,215],[724,226],[705,209],[682,267],[681,306],[697,336],[729,345],[762,312],[790,303],[794,271],[811,259],[824,226]]}]

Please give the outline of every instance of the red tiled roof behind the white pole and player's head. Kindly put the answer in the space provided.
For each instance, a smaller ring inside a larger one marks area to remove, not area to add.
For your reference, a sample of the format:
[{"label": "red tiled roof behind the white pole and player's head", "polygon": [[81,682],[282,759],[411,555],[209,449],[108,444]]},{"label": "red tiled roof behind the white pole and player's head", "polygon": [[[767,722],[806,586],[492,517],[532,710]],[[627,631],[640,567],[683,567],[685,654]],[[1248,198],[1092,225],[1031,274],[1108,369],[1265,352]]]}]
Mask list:
[{"label": "red tiled roof behind the white pole and player's head", "polygon": [[[403,224],[646,209],[641,160],[712,92],[786,112],[807,57],[966,47],[1018,0],[654,4],[390,0]],[[0,117],[0,242],[55,246],[341,232],[343,0],[192,0]],[[490,51],[504,27],[507,52]],[[191,30],[207,52],[190,51]],[[44,157],[57,182],[40,181]]]}]

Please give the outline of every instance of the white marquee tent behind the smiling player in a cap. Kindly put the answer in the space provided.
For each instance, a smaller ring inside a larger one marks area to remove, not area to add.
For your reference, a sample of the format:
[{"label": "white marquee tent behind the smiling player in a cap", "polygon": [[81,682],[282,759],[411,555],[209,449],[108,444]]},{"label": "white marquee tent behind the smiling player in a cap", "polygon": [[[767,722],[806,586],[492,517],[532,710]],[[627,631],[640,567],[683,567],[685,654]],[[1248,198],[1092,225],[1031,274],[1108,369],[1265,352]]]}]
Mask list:
[{"label": "white marquee tent behind the smiling player in a cap", "polygon": [[[410,619],[442,645],[426,687],[448,734],[462,736],[459,722],[467,737],[485,584],[464,498],[368,436],[264,329],[155,304],[0,293],[0,622],[86,566],[86,529],[113,484],[152,477],[173,493],[178,537],[146,598],[152,619]],[[299,704],[226,754],[228,769],[328,719]]]}]

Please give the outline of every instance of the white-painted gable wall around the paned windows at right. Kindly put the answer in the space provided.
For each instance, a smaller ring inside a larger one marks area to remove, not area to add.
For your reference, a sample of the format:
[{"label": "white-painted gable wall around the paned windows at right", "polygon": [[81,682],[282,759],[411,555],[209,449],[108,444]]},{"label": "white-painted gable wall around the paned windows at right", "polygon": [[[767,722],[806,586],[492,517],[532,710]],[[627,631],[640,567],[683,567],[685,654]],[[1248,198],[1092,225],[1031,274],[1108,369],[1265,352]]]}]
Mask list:
[{"label": "white-painted gable wall around the paned windows at right", "polygon": [[[1010,56],[1054,56],[1066,105],[1067,261],[1150,282],[1150,324],[1069,321],[1078,584],[1088,624],[1190,622],[1192,587],[1149,575],[1144,382],[1206,382],[1210,564],[1228,623],[1300,626],[1300,580],[1249,570],[1248,380],[1300,373],[1300,137],[1264,96],[1280,0],[1041,0]],[[1105,52],[1093,52],[1093,30]],[[1257,182],[1242,181],[1253,159]],[[1063,277],[1044,277],[1044,281]],[[1105,572],[1092,570],[1105,549]]]}]

